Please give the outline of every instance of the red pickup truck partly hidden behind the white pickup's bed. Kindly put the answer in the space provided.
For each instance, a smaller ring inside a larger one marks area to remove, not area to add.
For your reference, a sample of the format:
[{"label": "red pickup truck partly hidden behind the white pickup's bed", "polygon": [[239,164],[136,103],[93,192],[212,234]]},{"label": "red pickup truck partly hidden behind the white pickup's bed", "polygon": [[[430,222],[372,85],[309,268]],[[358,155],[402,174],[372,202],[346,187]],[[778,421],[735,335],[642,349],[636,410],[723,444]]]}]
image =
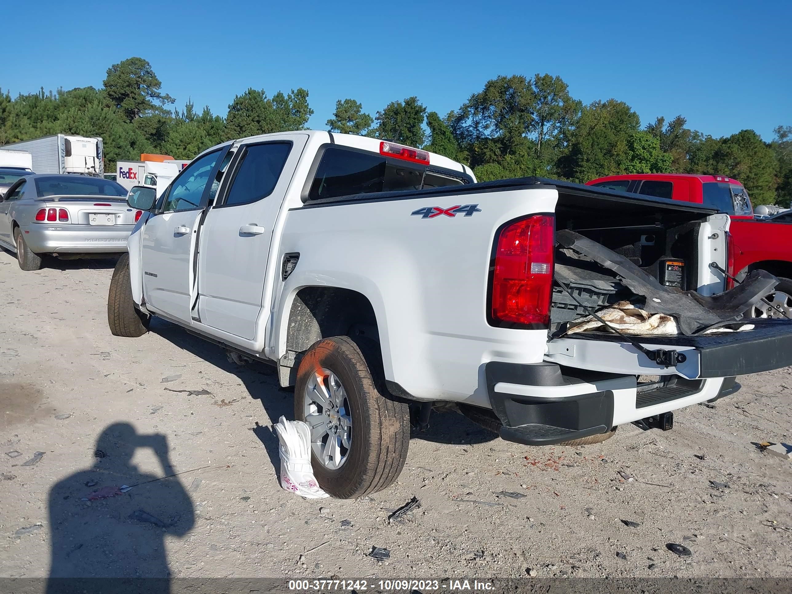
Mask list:
[{"label": "red pickup truck partly hidden behind the white pickup's bed", "polygon": [[[731,219],[727,272],[742,280],[756,268],[779,277],[775,292],[751,312],[756,318],[792,318],[792,227],[755,219],[743,185],[730,177],[684,173],[634,173],[587,181],[621,192],[683,200],[716,208]],[[732,281],[727,280],[727,287]]]}]

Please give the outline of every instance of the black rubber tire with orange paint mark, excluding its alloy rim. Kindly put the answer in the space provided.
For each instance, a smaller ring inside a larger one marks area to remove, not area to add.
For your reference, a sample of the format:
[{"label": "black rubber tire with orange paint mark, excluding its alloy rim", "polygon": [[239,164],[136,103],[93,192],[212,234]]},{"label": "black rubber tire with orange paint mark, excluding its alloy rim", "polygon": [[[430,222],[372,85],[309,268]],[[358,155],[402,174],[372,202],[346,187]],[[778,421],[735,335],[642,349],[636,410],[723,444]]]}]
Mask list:
[{"label": "black rubber tire with orange paint mark, excluding its alloy rim", "polygon": [[409,407],[384,386],[379,345],[339,336],[311,345],[297,369],[295,418],[305,420],[305,390],[317,369],[332,371],[344,386],[352,417],[345,463],[331,470],[311,463],[319,485],[332,497],[353,499],[390,486],[402,472],[409,447]]}]

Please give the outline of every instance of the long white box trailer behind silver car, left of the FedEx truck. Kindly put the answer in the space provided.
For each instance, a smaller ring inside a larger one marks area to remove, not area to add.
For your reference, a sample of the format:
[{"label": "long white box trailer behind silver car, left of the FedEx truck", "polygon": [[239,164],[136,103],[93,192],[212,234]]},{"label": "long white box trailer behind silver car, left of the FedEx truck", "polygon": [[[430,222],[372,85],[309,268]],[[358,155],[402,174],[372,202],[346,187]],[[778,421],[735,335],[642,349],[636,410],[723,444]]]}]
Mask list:
[{"label": "long white box trailer behind silver car, left of the FedEx truck", "polygon": [[86,173],[97,177],[105,174],[101,138],[54,134],[0,148],[29,152],[36,173]]}]

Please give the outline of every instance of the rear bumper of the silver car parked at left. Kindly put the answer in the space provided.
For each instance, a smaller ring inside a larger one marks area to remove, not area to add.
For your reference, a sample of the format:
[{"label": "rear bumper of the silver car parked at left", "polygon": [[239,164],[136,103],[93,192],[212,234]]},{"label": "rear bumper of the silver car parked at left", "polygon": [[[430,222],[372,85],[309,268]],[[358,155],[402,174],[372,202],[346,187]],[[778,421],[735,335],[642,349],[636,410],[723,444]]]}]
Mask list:
[{"label": "rear bumper of the silver car parked at left", "polygon": [[25,242],[35,253],[115,253],[127,251],[133,225],[31,224],[23,227]]}]

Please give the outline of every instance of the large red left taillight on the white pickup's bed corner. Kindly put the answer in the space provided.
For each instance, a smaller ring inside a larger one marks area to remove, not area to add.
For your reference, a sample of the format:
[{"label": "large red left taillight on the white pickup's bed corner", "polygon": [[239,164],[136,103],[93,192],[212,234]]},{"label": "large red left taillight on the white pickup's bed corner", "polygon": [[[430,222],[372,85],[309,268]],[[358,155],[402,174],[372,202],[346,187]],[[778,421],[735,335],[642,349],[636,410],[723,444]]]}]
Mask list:
[{"label": "large red left taillight on the white pickup's bed corner", "polygon": [[546,328],[553,291],[555,218],[534,215],[509,223],[497,236],[490,317],[493,325]]}]

